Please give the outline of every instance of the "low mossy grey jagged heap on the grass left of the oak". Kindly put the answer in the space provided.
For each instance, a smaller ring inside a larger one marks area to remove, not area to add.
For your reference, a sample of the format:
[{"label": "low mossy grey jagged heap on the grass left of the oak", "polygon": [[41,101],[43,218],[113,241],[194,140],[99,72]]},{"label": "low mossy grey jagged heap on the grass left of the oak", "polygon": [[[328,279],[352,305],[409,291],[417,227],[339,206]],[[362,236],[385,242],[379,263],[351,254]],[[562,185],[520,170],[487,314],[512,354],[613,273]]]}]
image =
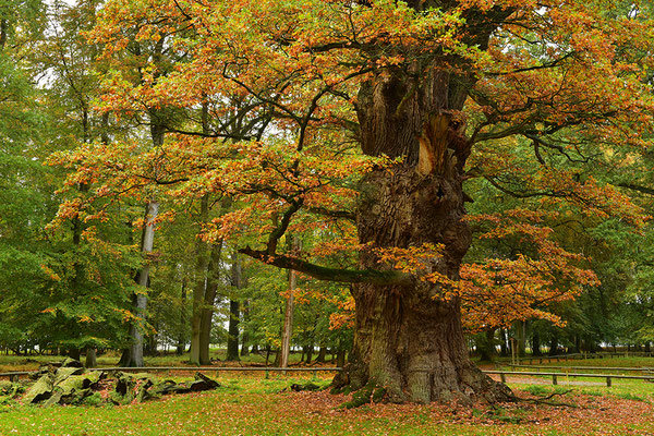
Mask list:
[{"label": "low mossy grey jagged heap on the grass left of the oak", "polygon": [[[161,398],[170,393],[189,393],[216,389],[220,385],[197,373],[195,380],[175,383],[156,380],[149,374],[126,374],[120,371],[87,371],[81,362],[66,359],[61,365],[44,365],[26,387],[21,402],[24,404],[129,404]],[[9,384],[12,385],[12,384]],[[4,385],[2,385],[4,386]],[[25,387],[0,386],[14,395]]]}]

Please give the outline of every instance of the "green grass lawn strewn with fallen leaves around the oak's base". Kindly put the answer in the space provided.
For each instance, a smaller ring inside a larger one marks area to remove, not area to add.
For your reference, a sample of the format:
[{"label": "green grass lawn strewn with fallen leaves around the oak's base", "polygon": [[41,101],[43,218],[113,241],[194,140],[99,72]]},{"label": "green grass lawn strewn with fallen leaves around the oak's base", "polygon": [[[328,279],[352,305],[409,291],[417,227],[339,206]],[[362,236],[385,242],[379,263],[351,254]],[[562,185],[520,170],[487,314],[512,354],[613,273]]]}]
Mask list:
[{"label": "green grass lawn strewn with fallen leaves around the oak's base", "polygon": [[[2,365],[11,363],[0,359]],[[519,402],[496,408],[371,404],[341,410],[344,397],[288,390],[292,383],[312,379],[229,374],[218,377],[222,386],[215,391],[142,404],[0,404],[0,435],[654,435],[654,384],[640,380],[616,380],[611,388],[510,385],[520,397],[559,393],[552,400],[573,408]],[[330,380],[325,375],[316,382],[327,386]]]}]

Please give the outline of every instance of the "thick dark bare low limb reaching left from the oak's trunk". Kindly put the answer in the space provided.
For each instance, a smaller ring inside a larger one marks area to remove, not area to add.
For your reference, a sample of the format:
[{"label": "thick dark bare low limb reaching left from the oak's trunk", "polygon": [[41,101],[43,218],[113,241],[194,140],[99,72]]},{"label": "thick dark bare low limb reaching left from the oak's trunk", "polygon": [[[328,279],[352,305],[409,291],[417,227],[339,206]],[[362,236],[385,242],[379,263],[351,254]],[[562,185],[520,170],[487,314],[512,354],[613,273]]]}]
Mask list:
[{"label": "thick dark bare low limb reaching left from the oak's trunk", "polygon": [[409,284],[412,282],[410,275],[397,270],[379,271],[374,269],[327,268],[296,257],[268,254],[266,251],[253,250],[250,246],[239,250],[239,253],[278,268],[293,269],[318,280],[339,281],[343,283],[366,282],[384,286]]}]

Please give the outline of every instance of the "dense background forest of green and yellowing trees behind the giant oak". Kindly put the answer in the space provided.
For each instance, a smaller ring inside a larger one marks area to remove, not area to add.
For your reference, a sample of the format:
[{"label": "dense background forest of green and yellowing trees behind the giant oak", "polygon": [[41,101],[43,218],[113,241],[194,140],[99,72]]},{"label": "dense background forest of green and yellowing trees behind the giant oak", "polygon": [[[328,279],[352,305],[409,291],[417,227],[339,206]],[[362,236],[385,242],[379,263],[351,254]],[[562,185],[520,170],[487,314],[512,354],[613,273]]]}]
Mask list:
[{"label": "dense background forest of green and yellowing trees behind the giant oak", "polygon": [[[256,141],[270,137],[270,129],[283,136],[283,124],[271,128],[269,108],[235,92],[229,108],[221,99],[228,97],[148,100],[148,81],[189,62],[186,53],[170,50],[165,37],[144,38],[152,28],[135,17],[131,39],[106,56],[107,43],[92,32],[100,9],[96,0],[0,3],[0,350],[86,354],[89,364],[96,350],[120,350],[122,364],[142,365],[142,353],[173,350],[207,364],[211,347],[227,347],[228,360],[267,352],[272,362],[291,311],[290,343],[303,361],[324,362],[329,351],[342,364],[352,346],[349,286],[240,253],[269,231],[266,220],[283,217],[252,218],[261,198],[228,186],[252,164],[216,164],[229,154],[203,155],[183,140]],[[186,152],[172,154],[165,141]],[[339,142],[348,162],[361,158],[347,137],[328,141]],[[525,159],[534,148],[537,159]],[[256,165],[267,156],[274,171],[282,150],[257,150]],[[477,283],[487,293],[463,296],[470,348],[483,359],[498,350],[508,355],[512,344],[534,355],[650,351],[654,231],[629,217],[652,213],[651,152],[574,137],[566,148],[548,147],[523,137],[484,156],[468,164],[477,172],[465,183],[474,241],[464,274],[474,281],[489,258],[509,272]],[[592,195],[570,192],[566,180],[545,185],[555,167],[592,186]],[[222,171],[228,187],[216,187],[209,171]],[[226,181],[230,171],[234,180]],[[361,174],[339,171],[339,189],[322,195],[351,210],[346,190]],[[578,203],[556,203],[574,195]],[[590,205],[593,195],[610,202]],[[239,219],[245,215],[247,225]],[[280,241],[283,250],[351,264],[356,253],[342,246],[356,245],[353,226],[332,218],[301,216]],[[553,267],[557,257],[546,250],[573,266]],[[520,269],[525,253],[536,251],[540,267],[549,269]]]}]

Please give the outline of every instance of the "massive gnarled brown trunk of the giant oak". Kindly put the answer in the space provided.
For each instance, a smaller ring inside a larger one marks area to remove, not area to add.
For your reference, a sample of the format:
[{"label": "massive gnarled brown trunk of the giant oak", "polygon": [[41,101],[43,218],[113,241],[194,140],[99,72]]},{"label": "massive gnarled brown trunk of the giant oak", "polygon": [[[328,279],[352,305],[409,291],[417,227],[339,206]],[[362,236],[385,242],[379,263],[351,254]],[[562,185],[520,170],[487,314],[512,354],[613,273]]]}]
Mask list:
[{"label": "massive gnarled brown trunk of the giant oak", "polygon": [[[470,80],[432,68],[412,84],[405,72],[384,70],[362,86],[356,109],[364,153],[402,161],[376,168],[362,181],[356,225],[360,243],[372,250],[360,255],[361,269],[389,268],[375,249],[443,244],[425,269],[459,279],[471,243],[462,189],[470,143],[455,113]],[[336,388],[376,386],[397,402],[510,398],[505,385],[470,360],[460,301],[443,299],[441,284],[414,277],[410,283],[356,283],[352,293],[354,344]]]}]

